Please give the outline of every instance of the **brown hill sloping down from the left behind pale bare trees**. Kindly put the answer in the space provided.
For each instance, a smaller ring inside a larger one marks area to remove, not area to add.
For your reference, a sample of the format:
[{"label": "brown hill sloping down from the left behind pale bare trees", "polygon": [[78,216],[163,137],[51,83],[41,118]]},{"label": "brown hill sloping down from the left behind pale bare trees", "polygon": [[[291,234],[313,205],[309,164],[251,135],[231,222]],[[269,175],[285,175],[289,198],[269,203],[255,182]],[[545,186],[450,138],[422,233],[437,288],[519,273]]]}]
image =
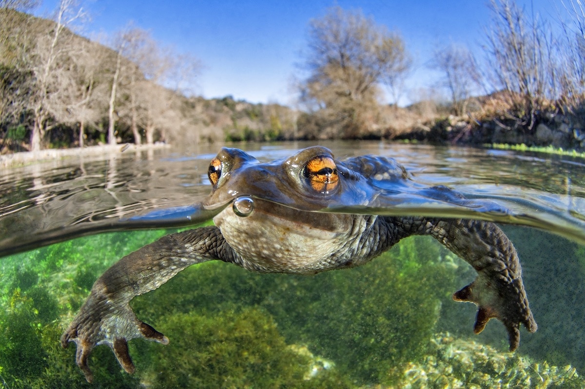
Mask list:
[{"label": "brown hill sloping down from the left behind pale bare trees", "polygon": [[[0,9],[0,152],[30,147],[33,111],[39,100],[37,74],[46,64],[43,56],[55,29],[51,20]],[[45,146],[74,147],[80,144],[80,136],[85,145],[105,143],[118,53],[67,29],[60,35],[57,50],[63,54],[51,72],[60,79],[47,81]],[[147,141],[148,129],[153,130],[152,141],[171,143],[295,137],[297,112],[289,107],[236,101],[232,96],[184,96],[147,79],[140,65],[126,57],[121,58],[120,70],[114,112],[118,141],[135,141],[133,124],[142,142]],[[84,100],[84,93],[90,92]]]}]

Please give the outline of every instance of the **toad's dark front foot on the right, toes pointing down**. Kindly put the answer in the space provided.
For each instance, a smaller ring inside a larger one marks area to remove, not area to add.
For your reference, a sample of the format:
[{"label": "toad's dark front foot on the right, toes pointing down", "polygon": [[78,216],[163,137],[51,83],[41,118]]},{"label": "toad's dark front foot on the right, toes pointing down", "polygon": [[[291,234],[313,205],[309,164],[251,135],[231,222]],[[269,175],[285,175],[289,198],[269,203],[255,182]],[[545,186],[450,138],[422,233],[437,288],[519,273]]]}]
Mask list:
[{"label": "toad's dark front foot on the right, toes pointing down", "polygon": [[528,307],[521,279],[507,283],[480,275],[473,283],[454,293],[453,300],[477,305],[476,322],[473,326],[475,334],[483,331],[490,319],[500,320],[508,331],[510,351],[517,349],[520,344],[520,324],[529,332],[536,331],[537,325]]}]

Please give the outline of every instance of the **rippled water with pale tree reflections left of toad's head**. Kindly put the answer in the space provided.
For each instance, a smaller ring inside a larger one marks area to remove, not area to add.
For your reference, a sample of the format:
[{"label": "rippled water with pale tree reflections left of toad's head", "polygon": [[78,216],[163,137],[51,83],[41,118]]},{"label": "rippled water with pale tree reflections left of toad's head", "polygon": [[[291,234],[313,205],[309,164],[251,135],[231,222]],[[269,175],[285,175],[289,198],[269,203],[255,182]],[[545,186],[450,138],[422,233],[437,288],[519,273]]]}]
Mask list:
[{"label": "rippled water with pale tree reflections left of toad's head", "polygon": [[[107,230],[120,218],[207,195],[209,187],[197,185],[207,160],[161,162],[147,149],[120,153],[116,147],[99,156],[6,169],[0,178],[0,252],[44,237]],[[189,185],[182,185],[185,179]]]}]

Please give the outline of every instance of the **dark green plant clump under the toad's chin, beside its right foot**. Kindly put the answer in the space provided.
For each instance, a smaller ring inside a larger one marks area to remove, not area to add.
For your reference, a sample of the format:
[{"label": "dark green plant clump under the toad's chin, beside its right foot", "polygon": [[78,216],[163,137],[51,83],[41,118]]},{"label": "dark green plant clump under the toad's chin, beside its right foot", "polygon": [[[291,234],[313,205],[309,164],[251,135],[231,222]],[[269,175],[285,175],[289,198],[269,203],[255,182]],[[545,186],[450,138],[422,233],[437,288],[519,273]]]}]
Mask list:
[{"label": "dark green plant clump under the toad's chin, beside its right foot", "polygon": [[367,266],[331,273],[326,287],[307,283],[302,290],[312,294],[298,306],[309,309],[295,310],[308,317],[302,336],[352,377],[392,381],[402,364],[424,354],[442,301],[457,289],[442,253],[432,239],[414,237]]}]

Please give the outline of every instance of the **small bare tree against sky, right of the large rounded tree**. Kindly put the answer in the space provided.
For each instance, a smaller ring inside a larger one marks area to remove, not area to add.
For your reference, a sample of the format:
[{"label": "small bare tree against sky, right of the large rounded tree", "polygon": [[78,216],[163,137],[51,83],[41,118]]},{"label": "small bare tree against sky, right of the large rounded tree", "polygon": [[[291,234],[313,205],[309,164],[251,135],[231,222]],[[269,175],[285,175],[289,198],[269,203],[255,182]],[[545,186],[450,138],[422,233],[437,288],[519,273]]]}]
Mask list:
[{"label": "small bare tree against sky, right of the large rounded tree", "polygon": [[481,85],[481,75],[473,54],[467,47],[450,44],[433,53],[432,67],[443,72],[443,87],[449,91],[453,113],[465,113],[474,88]]}]

